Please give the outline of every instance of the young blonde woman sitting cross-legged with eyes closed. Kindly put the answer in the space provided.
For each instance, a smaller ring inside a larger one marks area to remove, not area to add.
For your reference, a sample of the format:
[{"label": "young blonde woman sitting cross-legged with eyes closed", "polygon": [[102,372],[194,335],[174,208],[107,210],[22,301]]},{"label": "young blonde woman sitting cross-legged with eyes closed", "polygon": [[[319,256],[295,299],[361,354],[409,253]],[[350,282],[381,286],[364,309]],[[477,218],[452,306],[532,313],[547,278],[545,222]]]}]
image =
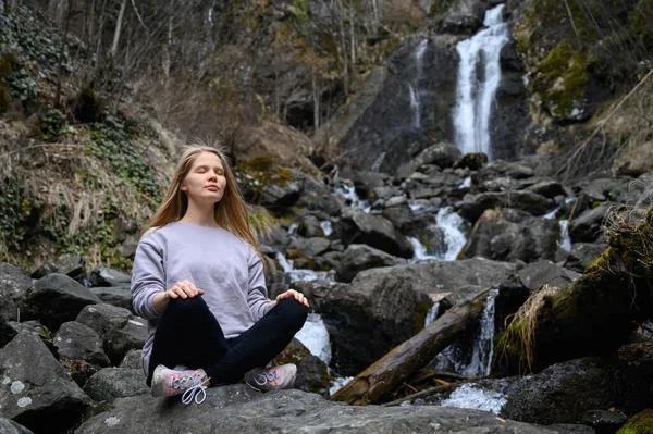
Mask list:
[{"label": "young blonde woman sitting cross-legged with eyes closed", "polygon": [[247,207],[224,154],[189,147],[138,244],[134,309],[148,320],[143,351],[155,396],[204,401],[205,387],[236,383],[292,387],[294,364],[264,367],[307,317],[296,290],[269,300]]}]

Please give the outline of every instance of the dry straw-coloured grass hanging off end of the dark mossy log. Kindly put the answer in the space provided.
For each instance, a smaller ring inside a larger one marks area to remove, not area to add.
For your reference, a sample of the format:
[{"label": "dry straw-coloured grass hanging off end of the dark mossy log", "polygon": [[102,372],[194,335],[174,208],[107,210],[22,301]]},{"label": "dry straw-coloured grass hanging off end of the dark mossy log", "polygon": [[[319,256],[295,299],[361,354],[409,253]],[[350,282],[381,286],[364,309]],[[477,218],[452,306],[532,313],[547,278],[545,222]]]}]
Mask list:
[{"label": "dry straw-coloured grass hanging off end of the dark mossy log", "polygon": [[538,319],[547,305],[550,298],[559,292],[555,286],[544,285],[540,290],[531,294],[519,310],[512,317],[498,343],[496,344],[497,360],[510,360],[509,355],[519,351],[519,372],[530,372],[534,361],[535,330]]}]

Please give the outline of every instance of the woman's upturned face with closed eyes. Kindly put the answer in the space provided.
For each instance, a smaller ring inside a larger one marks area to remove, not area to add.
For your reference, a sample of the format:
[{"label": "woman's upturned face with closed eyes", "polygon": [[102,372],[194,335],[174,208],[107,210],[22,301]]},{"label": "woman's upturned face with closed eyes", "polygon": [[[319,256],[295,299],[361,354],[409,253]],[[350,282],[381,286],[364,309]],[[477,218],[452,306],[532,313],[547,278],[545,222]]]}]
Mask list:
[{"label": "woman's upturned face with closed eyes", "polygon": [[181,188],[182,191],[186,191],[189,201],[219,202],[226,188],[224,168],[220,157],[213,152],[199,152]]}]

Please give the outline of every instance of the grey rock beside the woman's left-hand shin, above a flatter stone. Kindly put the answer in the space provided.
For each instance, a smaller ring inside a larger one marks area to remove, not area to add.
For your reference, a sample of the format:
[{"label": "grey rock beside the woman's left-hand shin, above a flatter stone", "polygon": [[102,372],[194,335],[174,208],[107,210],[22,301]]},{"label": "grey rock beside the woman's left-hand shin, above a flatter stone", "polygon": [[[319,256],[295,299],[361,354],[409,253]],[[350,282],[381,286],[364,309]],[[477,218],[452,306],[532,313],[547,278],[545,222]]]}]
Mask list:
[{"label": "grey rock beside the woman's left-hand shin, above a flatter stone", "polygon": [[110,305],[86,307],[77,322],[95,330],[102,339],[111,364],[119,364],[131,349],[140,349],[147,338],[147,324],[126,309]]}]

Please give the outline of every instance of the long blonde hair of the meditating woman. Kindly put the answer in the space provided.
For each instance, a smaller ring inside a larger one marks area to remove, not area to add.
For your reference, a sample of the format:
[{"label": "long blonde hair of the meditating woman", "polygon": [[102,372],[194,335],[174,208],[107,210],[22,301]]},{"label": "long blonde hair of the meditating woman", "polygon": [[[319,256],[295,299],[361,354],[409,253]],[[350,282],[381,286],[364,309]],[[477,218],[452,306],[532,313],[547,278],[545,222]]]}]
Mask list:
[{"label": "long blonde hair of the meditating woman", "polygon": [[190,172],[193,162],[200,152],[211,152],[218,156],[222,162],[224,177],[226,178],[224,195],[222,196],[222,199],[215,203],[213,211],[215,222],[220,227],[227,230],[238,238],[251,245],[264,266],[264,261],[262,260],[261,252],[258,248],[256,235],[254,235],[249,225],[247,204],[235,182],[229,164],[229,159],[221,147],[210,146],[207,142],[195,141],[186,147],[177,162],[172,182],[170,183],[170,187],[168,187],[168,193],[165,194],[161,206],[157,212],[155,212],[155,215],[152,215],[149,224],[145,227],[144,234],[148,231],[163,227],[169,223],[177,222],[184,216],[188,209],[188,197],[186,196],[186,193],[182,191],[182,183],[186,178],[186,175],[188,175],[188,172]]}]

